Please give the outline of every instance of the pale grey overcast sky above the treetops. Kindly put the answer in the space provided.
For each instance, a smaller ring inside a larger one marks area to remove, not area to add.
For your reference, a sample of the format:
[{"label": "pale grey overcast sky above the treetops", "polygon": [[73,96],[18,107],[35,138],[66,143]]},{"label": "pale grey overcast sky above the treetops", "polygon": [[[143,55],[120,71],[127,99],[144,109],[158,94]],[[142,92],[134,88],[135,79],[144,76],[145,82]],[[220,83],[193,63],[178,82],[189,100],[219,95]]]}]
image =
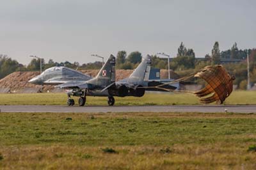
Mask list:
[{"label": "pale grey overcast sky above the treetops", "polygon": [[256,47],[255,15],[255,0],[0,0],[0,54],[88,63],[118,50],[176,56],[184,42],[204,57],[215,41]]}]

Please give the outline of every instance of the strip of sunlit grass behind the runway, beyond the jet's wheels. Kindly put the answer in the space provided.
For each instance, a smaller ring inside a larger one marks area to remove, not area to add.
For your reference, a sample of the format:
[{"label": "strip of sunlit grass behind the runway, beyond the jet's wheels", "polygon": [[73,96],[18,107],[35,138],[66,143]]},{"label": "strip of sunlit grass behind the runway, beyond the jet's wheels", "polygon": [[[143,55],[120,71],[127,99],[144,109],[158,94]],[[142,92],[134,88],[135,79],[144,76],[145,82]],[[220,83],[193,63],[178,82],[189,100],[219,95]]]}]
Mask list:
[{"label": "strip of sunlit grass behind the runway, beyond the jet's wheels", "polygon": [[[77,104],[77,97],[74,97]],[[190,93],[146,93],[143,97],[115,97],[115,105],[200,104]],[[65,105],[65,93],[0,94],[0,105]],[[234,91],[225,104],[256,104],[256,91]],[[86,105],[108,105],[107,97],[86,97]]]}]

